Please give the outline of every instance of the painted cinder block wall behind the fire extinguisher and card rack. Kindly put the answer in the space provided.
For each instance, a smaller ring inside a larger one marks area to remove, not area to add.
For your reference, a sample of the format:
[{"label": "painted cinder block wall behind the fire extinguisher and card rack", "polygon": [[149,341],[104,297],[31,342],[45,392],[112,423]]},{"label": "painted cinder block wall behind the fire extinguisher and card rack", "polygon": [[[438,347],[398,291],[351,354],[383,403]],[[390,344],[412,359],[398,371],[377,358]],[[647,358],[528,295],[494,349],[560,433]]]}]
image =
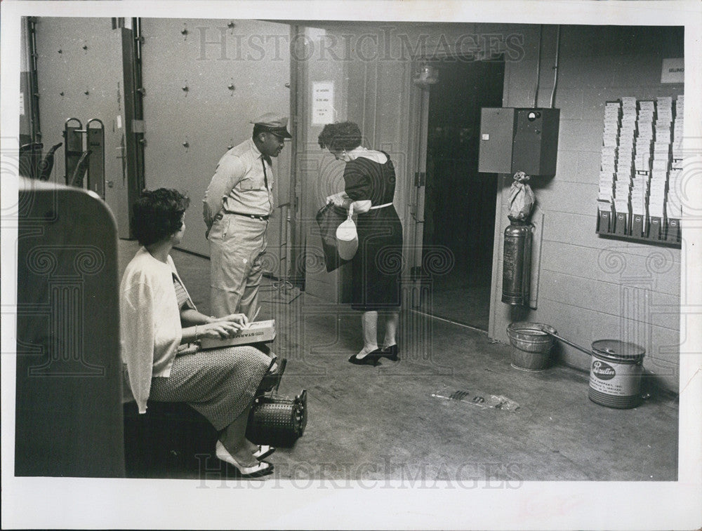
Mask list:
[{"label": "painted cinder block wall behind the fire extinguisher and card rack", "polygon": [[[538,26],[523,26],[524,59],[505,65],[505,107],[534,105]],[[557,27],[545,26],[538,106],[548,107],[553,86]],[[531,186],[544,213],[538,309],[501,302],[503,231],[511,175],[502,176],[496,219],[496,262],[490,335],[507,342],[517,320],[554,326],[583,347],[618,339],[646,349],[644,368],[677,391],[680,357],[680,253],[675,248],[604,239],[595,234],[597,181],[604,104],[622,96],[655,99],[684,93],[662,84],[663,58],[683,56],[683,31],[674,27],[563,26],[554,107],[560,109],[555,177]],[[684,234],[683,234],[684,238]],[[535,264],[535,266],[538,264]],[[589,369],[590,359],[559,344],[561,361]]]}]

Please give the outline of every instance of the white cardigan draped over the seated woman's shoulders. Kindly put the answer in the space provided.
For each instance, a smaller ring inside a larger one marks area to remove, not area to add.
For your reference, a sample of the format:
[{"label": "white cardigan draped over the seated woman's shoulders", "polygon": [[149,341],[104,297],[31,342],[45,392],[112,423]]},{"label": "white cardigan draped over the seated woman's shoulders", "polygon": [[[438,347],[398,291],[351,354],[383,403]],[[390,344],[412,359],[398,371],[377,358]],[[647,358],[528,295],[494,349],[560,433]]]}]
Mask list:
[{"label": "white cardigan draped over the seated woman's shoulders", "polygon": [[[119,286],[121,357],[130,388],[125,391],[131,391],[140,413],[146,412],[152,377],[171,375],[183,337],[173,274],[180,281],[170,256],[164,264],[142,247],[129,262]],[[192,304],[190,295],[188,300]]]}]

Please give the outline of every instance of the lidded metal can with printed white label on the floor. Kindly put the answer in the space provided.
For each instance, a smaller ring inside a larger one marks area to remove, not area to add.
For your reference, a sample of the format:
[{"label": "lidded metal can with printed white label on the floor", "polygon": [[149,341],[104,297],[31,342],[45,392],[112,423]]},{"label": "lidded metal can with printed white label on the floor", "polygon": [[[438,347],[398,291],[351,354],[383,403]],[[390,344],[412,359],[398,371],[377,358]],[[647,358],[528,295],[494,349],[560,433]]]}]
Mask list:
[{"label": "lidded metal can with printed white label on the floor", "polygon": [[627,409],[639,405],[645,353],[643,347],[634,343],[592,342],[590,400],[609,408]]}]

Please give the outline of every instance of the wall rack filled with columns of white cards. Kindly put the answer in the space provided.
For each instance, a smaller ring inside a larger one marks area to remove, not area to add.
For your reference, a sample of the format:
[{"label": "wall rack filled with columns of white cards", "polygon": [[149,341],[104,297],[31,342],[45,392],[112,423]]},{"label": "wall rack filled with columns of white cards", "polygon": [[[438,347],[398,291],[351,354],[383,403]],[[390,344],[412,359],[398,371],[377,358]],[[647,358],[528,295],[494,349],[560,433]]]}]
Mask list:
[{"label": "wall rack filled with columns of white cards", "polygon": [[604,107],[597,234],[680,247],[684,96]]}]

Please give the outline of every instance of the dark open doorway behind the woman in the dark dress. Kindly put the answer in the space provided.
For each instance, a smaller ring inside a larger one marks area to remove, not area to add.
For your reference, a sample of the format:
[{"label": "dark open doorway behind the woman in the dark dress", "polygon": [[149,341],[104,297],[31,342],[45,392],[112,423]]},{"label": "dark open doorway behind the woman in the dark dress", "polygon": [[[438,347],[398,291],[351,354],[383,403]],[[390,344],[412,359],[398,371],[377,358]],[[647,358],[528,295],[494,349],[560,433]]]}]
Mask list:
[{"label": "dark open doorway behind the woman in the dark dress", "polygon": [[502,107],[505,63],[432,63],[424,198],[423,264],[431,296],[423,311],[488,329],[496,174],[478,173],[480,109]]}]

